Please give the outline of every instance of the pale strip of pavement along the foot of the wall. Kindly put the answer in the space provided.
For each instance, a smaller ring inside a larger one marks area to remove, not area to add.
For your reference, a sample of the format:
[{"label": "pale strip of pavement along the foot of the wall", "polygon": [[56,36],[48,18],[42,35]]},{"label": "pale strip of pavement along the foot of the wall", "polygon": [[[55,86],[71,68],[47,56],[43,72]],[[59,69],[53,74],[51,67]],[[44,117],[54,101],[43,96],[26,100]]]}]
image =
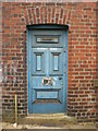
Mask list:
[{"label": "pale strip of pavement along the foot of the wall", "polygon": [[94,122],[79,122],[77,124],[66,123],[63,127],[44,127],[37,124],[17,124],[16,127],[13,123],[2,122],[2,129],[96,129],[96,123]]}]

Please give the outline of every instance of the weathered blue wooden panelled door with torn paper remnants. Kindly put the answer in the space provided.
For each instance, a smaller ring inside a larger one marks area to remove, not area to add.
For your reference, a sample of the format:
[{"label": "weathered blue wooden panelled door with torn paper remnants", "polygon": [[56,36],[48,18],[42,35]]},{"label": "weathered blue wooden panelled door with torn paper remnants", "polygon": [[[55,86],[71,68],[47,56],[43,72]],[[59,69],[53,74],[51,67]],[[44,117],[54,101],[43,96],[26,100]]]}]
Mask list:
[{"label": "weathered blue wooden panelled door with torn paper remnants", "polygon": [[65,31],[29,31],[29,114],[66,111],[66,43]]}]

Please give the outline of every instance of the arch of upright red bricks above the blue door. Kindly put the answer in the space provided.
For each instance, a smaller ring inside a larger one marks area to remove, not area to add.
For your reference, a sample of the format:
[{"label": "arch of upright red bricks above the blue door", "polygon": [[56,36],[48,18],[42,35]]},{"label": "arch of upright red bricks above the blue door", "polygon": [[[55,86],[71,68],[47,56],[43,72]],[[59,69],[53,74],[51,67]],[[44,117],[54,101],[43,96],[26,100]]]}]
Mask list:
[{"label": "arch of upright red bricks above the blue door", "polygon": [[64,7],[29,7],[25,11],[26,25],[69,24],[71,11]]}]

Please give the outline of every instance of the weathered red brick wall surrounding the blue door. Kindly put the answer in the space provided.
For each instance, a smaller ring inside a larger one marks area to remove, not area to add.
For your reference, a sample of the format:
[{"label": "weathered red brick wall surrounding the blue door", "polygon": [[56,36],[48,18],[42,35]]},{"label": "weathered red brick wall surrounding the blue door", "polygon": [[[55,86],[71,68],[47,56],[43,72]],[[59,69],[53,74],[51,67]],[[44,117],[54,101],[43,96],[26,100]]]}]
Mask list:
[{"label": "weathered red brick wall surrounding the blue door", "polygon": [[96,3],[2,3],[3,117],[14,114],[15,91],[19,116],[27,115],[26,25],[33,24],[69,24],[68,115],[94,120]]}]

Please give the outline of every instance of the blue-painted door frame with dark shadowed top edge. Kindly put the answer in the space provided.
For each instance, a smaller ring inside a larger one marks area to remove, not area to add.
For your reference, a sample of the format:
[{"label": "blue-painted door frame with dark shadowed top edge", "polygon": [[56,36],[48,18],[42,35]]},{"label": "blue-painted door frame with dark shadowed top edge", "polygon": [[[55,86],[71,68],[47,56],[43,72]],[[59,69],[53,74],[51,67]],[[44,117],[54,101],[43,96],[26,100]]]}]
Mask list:
[{"label": "blue-painted door frame with dark shadowed top edge", "polygon": [[66,107],[65,107],[65,112],[68,112],[68,59],[69,59],[69,25],[60,25],[60,24],[37,24],[37,25],[28,25],[26,27],[27,29],[27,115],[29,115],[28,112],[28,108],[30,108],[30,104],[29,104],[29,61],[30,61],[30,56],[29,56],[29,45],[30,45],[30,33],[29,31],[33,29],[60,29],[60,31],[65,31],[65,60],[66,60],[66,76],[65,76],[65,103],[66,103]]}]

